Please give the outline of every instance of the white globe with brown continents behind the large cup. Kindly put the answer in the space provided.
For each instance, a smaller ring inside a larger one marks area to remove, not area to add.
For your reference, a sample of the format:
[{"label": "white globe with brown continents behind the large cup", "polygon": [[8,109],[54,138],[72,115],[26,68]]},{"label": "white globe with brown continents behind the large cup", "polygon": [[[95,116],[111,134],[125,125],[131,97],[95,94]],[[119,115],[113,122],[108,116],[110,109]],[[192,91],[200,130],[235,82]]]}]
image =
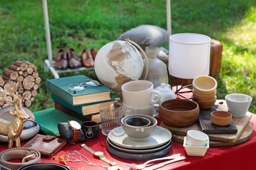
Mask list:
[{"label": "white globe with brown continents behind the large cup", "polygon": [[143,71],[142,56],[129,42],[113,41],[98,50],[95,73],[100,82],[115,92],[131,80],[139,80]]}]

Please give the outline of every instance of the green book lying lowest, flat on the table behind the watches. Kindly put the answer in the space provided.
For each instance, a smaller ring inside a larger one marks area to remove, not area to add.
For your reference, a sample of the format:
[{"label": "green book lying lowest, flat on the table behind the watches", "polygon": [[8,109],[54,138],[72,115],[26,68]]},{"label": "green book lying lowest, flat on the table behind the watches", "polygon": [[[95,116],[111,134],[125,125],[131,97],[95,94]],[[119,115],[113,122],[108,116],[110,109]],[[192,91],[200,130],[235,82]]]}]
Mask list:
[{"label": "green book lying lowest, flat on the table behind the watches", "polygon": [[39,110],[33,112],[33,115],[35,116],[35,123],[39,124],[43,135],[58,135],[58,122],[75,120],[79,124],[83,123],[83,121],[54,108]]}]

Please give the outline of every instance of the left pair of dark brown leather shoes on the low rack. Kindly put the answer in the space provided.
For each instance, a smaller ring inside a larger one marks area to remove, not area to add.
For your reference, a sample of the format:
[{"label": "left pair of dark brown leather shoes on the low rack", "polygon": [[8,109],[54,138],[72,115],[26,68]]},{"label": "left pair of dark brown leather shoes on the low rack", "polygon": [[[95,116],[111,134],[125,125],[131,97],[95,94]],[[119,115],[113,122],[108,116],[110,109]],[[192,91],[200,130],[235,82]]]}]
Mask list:
[{"label": "left pair of dark brown leather shoes on the low rack", "polygon": [[81,61],[73,48],[70,48],[68,52],[64,49],[60,49],[57,52],[54,67],[55,69],[61,70],[66,70],[68,67],[70,67],[70,69],[77,69],[81,67]]}]

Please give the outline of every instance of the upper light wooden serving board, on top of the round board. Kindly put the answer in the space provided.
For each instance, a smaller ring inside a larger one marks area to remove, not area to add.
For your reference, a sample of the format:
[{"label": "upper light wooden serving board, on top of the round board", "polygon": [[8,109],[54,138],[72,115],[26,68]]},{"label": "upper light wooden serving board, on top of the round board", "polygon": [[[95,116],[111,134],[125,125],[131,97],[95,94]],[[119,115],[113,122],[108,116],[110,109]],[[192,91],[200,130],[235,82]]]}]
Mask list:
[{"label": "upper light wooden serving board, on top of the round board", "polygon": [[[251,119],[251,112],[247,112],[244,118],[233,118],[234,124],[236,125],[238,132],[234,134],[207,134],[209,136],[209,139],[211,141],[219,141],[224,143],[235,143],[238,140],[238,137],[242,134],[245,127],[249,123],[249,120]],[[176,135],[182,135],[186,136],[186,132],[188,130],[198,130],[202,131],[200,128],[198,122],[196,124],[193,124],[192,126],[186,126],[186,127],[171,127],[167,126],[163,123],[161,123],[162,127],[165,127],[166,129],[169,129],[171,133]]]}]

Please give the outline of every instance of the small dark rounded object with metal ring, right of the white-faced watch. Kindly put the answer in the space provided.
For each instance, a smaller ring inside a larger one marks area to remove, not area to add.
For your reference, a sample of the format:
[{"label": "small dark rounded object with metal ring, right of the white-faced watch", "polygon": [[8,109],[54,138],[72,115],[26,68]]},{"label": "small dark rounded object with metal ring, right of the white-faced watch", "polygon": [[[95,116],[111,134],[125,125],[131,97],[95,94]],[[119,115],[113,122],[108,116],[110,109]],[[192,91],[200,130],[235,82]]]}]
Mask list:
[{"label": "small dark rounded object with metal ring, right of the white-faced watch", "polygon": [[94,121],[83,122],[81,129],[86,139],[95,139],[100,135],[100,127],[98,123]]}]

